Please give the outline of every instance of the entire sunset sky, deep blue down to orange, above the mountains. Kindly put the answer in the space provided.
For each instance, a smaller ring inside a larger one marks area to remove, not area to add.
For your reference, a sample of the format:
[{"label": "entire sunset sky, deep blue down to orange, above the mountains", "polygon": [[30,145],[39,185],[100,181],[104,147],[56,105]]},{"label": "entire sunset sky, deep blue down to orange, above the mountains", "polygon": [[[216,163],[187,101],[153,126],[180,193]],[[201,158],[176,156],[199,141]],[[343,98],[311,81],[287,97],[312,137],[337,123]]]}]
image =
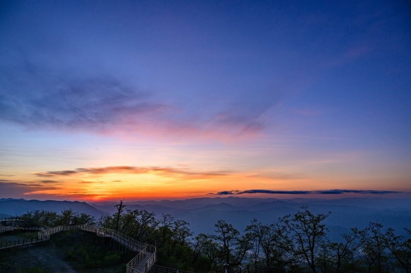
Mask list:
[{"label": "entire sunset sky, deep blue down to orange, above the mountains", "polygon": [[0,5],[0,198],[411,197],[407,1]]}]

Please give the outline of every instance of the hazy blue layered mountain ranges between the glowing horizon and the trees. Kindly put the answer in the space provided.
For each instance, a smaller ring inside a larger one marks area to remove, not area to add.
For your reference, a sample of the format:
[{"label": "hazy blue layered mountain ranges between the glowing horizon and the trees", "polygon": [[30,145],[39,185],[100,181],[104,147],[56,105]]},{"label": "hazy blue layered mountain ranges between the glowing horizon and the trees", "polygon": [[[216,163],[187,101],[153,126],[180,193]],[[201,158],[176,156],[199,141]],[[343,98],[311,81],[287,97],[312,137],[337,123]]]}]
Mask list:
[{"label": "hazy blue layered mountain ranges between the glowing horizon and the trees", "polygon": [[[98,219],[103,214],[113,214],[116,202],[69,202],[38,201],[24,199],[0,199],[0,214],[18,215],[33,209],[60,212],[62,209],[91,214]],[[259,199],[241,197],[197,198],[176,201],[126,202],[126,209],[153,211],[158,217],[171,214],[175,219],[190,223],[194,233],[213,233],[214,225],[223,219],[239,231],[256,218],[263,223],[272,223],[278,217],[294,214],[300,207],[308,206],[315,214],[332,214],[327,218],[329,238],[339,240],[349,228],[364,228],[369,222],[392,227],[396,233],[405,235],[402,228],[411,228],[411,200],[389,198],[343,198],[343,199]]]}]

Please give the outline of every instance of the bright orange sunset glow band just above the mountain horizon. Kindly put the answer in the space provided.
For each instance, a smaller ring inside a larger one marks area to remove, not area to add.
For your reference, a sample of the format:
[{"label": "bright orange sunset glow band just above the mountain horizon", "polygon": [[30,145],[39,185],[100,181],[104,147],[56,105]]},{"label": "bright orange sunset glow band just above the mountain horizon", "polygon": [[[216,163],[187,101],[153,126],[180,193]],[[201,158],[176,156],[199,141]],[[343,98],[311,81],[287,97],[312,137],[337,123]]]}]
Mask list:
[{"label": "bright orange sunset glow band just above the mountain horizon", "polygon": [[[368,180],[347,182],[333,178],[313,179],[303,175],[283,175],[261,171],[198,171],[190,168],[114,166],[31,173],[32,182],[21,183],[26,197],[59,198],[83,201],[118,199],[186,199],[217,197],[230,190],[316,191],[366,190]],[[37,180],[33,180],[33,176]],[[378,185],[378,181],[375,181]],[[386,190],[384,182],[372,190]],[[362,188],[361,188],[362,187]],[[395,189],[402,190],[402,189]],[[307,194],[241,194],[241,197],[313,197]],[[324,196],[322,196],[324,197]]]}]

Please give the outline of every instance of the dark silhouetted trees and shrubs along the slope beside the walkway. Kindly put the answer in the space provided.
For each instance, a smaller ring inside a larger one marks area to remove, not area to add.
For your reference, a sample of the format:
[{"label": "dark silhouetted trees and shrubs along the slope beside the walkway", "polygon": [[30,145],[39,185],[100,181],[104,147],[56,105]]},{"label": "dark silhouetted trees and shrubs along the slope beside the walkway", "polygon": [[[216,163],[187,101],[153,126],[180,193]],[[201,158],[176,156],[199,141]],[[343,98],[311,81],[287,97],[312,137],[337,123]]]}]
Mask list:
[{"label": "dark silhouetted trees and shrubs along the slope beside the walkway", "polygon": [[[123,202],[115,208],[113,215],[102,216],[96,224],[156,245],[157,264],[165,267],[193,272],[220,272],[225,264],[231,270],[246,263],[288,272],[381,273],[411,269],[411,240],[398,236],[393,228],[369,223],[363,229],[351,228],[342,242],[334,243],[327,238],[325,225],[330,213],[313,214],[308,207],[273,223],[254,219],[241,233],[220,220],[215,223],[215,233],[197,236],[193,236],[187,221],[169,214],[157,217],[145,209],[127,209]],[[70,209],[61,214],[31,211],[22,219],[32,226],[95,223],[92,216]],[[410,229],[404,230],[411,236]],[[116,260],[114,253],[110,255]]]}]

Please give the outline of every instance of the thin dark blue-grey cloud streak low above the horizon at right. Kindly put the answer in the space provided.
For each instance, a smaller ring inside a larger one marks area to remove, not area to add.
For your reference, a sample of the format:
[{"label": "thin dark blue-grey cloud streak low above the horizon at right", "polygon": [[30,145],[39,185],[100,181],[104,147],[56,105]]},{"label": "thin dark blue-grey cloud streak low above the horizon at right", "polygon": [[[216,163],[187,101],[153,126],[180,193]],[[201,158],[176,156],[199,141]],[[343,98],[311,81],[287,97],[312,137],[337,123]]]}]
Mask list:
[{"label": "thin dark blue-grey cloud streak low above the horizon at right", "polygon": [[358,194],[389,194],[400,193],[393,190],[227,190],[223,192],[216,192],[217,195],[231,195],[231,194],[344,194],[344,193],[358,193]]}]

